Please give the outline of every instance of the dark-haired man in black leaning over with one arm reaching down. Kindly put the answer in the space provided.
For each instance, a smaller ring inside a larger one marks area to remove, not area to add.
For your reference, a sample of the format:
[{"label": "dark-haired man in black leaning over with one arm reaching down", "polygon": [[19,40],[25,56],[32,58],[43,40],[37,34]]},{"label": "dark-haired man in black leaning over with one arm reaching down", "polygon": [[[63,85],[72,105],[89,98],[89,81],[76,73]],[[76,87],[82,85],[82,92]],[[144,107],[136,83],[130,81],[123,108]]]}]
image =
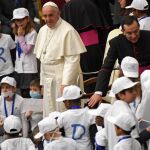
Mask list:
[{"label": "dark-haired man in black leaning over with one arm reaching down", "polygon": [[139,71],[150,69],[150,31],[140,31],[138,20],[134,16],[126,16],[121,23],[122,32],[110,41],[110,49],[98,74],[95,93],[88,105],[93,107],[102,100],[108,90],[108,84],[115,61],[119,64],[126,56],[134,57],[139,62]]}]

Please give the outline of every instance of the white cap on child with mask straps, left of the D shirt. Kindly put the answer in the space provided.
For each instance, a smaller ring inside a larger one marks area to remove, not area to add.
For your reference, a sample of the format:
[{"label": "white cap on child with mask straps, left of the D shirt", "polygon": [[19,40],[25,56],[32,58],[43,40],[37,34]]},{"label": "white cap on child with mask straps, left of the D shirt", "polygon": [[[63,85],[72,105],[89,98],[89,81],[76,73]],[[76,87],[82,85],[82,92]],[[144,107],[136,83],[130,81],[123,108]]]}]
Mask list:
[{"label": "white cap on child with mask straps, left of the D shirt", "polygon": [[38,123],[39,133],[37,133],[34,138],[38,139],[42,137],[45,133],[55,130],[58,125],[54,118],[46,117]]}]

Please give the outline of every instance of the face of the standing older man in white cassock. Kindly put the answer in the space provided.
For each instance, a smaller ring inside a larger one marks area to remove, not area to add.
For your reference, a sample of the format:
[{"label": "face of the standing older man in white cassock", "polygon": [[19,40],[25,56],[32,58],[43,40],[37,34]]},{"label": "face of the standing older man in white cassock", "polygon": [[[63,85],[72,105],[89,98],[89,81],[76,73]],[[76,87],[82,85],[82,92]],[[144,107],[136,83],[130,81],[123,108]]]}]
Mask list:
[{"label": "face of the standing older man in white cassock", "polygon": [[60,13],[57,8],[45,6],[42,8],[43,19],[48,27],[52,28],[57,23]]}]

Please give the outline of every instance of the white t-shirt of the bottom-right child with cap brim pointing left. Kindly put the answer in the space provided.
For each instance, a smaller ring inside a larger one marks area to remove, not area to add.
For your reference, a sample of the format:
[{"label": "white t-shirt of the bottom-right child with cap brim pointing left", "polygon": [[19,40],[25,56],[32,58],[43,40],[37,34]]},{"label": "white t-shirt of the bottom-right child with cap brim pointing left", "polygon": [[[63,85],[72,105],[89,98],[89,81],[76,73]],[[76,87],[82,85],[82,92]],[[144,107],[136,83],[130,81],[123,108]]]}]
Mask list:
[{"label": "white t-shirt of the bottom-right child with cap brim pointing left", "polygon": [[140,143],[133,139],[123,139],[114,146],[114,150],[141,150]]}]

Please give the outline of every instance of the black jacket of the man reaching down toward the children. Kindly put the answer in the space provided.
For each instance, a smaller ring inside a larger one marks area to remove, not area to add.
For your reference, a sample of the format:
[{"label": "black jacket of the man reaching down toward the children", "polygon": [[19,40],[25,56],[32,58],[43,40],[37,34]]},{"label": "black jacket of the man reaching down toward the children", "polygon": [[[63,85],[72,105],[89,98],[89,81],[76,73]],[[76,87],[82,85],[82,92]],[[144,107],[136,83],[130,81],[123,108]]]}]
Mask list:
[{"label": "black jacket of the man reaching down toward the children", "polygon": [[140,31],[140,38],[135,44],[128,41],[123,34],[110,41],[110,49],[99,71],[95,91],[101,91],[103,96],[106,95],[115,61],[118,59],[120,64],[126,56],[136,58],[140,66],[150,65],[150,31]]}]

